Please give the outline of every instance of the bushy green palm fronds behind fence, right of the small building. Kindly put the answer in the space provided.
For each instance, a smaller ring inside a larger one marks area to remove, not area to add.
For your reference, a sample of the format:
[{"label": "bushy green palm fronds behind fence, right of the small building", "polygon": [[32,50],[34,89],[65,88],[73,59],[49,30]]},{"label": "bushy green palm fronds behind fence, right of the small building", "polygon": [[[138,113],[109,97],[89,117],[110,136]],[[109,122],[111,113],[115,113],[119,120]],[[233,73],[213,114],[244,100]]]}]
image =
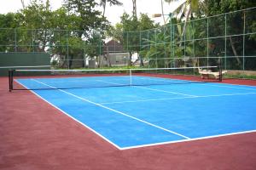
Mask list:
[{"label": "bushy green palm fronds behind fence, right of the small building", "polygon": [[[175,20],[172,20],[175,22]],[[177,31],[174,31],[177,30]],[[171,36],[172,33],[172,36]],[[185,34],[185,39],[192,39],[195,29],[189,25]],[[151,67],[167,67],[172,63],[171,59],[167,58],[181,58],[174,66],[183,65],[183,56],[193,56],[193,43],[185,42],[180,45],[179,38],[182,35],[181,25],[164,26],[153,31],[148,31],[149,38],[143,38],[143,48],[140,55],[143,58],[149,59]],[[171,41],[172,38],[172,41]]]}]

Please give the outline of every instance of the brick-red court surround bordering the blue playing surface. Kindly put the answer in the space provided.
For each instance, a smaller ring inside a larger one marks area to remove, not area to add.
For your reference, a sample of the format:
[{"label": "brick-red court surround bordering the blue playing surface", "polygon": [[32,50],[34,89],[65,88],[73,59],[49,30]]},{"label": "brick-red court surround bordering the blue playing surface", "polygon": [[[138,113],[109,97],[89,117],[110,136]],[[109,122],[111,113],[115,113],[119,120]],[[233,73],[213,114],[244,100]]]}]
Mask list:
[{"label": "brick-red court surround bordering the blue playing surface", "polygon": [[8,88],[0,78],[1,170],[256,169],[256,133],[117,150],[31,92]]}]

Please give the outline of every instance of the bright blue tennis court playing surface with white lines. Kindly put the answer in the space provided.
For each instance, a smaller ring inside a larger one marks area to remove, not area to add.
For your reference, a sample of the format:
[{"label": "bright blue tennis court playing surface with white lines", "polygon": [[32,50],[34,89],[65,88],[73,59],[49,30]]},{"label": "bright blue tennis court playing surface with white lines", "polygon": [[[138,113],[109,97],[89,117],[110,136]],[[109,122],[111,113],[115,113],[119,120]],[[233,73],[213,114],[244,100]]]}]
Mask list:
[{"label": "bright blue tennis court playing surface with white lines", "polygon": [[132,81],[168,83],[104,87],[129,79],[62,77],[15,81],[26,88],[79,87],[32,92],[119,150],[256,132],[256,87],[217,82],[175,84],[172,81],[178,80],[155,77],[133,77]]}]

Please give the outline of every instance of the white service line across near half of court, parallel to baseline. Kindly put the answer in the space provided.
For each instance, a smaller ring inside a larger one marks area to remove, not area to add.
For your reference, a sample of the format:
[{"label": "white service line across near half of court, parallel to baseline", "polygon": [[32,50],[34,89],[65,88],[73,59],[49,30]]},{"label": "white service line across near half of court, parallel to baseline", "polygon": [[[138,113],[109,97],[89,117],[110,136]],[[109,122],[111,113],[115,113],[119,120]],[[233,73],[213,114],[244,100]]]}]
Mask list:
[{"label": "white service line across near half of court, parallel to baseline", "polygon": [[211,98],[211,97],[234,96],[234,95],[247,95],[247,94],[256,94],[256,92],[255,92],[255,93],[253,93],[253,92],[252,92],[252,93],[245,93],[245,94],[219,94],[219,95],[191,96],[191,97],[183,97],[183,98],[163,98],[163,99],[126,100],[126,101],[106,102],[106,103],[101,103],[101,105],[123,104],[123,103],[137,103],[137,102],[158,101],[158,100],[171,100],[171,99]]}]

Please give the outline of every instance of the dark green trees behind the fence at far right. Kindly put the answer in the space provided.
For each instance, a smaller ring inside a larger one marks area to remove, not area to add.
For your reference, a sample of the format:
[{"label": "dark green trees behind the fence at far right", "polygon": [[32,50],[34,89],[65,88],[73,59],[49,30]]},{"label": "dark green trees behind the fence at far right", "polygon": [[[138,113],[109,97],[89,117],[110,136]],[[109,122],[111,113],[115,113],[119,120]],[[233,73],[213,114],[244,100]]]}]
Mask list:
[{"label": "dark green trees behind the fence at far right", "polygon": [[[205,2],[207,6],[207,15],[215,15],[215,14],[221,14],[216,18],[215,23],[213,23],[212,26],[214,28],[218,26],[219,31],[216,29],[212,29],[212,31],[216,32],[216,35],[218,36],[224,36],[224,26],[225,26],[225,19],[226,17],[226,30],[227,35],[239,35],[243,33],[244,24],[246,28],[246,32],[255,32],[255,20],[256,20],[256,14],[255,10],[247,10],[247,11],[236,11],[244,8],[252,8],[256,6],[255,1],[251,0],[206,0]],[[236,11],[236,12],[232,12]],[[229,13],[230,14],[224,14]],[[223,18],[221,20],[221,18]],[[246,41],[246,55],[255,55],[256,50],[255,48],[252,48],[255,46],[256,43],[256,36],[255,34],[251,34],[245,37]],[[224,54],[224,40],[218,40],[218,42],[213,43],[215,46],[216,56],[219,56]],[[228,37],[227,38],[227,50],[226,54],[229,56],[236,56],[236,59],[230,59],[230,62],[228,63],[228,67],[230,69],[241,69],[242,63],[239,56],[243,55],[243,46],[242,46],[242,37]],[[245,65],[250,65],[250,63],[247,64],[245,62]],[[253,65],[248,66],[248,68],[252,68]]]}]

